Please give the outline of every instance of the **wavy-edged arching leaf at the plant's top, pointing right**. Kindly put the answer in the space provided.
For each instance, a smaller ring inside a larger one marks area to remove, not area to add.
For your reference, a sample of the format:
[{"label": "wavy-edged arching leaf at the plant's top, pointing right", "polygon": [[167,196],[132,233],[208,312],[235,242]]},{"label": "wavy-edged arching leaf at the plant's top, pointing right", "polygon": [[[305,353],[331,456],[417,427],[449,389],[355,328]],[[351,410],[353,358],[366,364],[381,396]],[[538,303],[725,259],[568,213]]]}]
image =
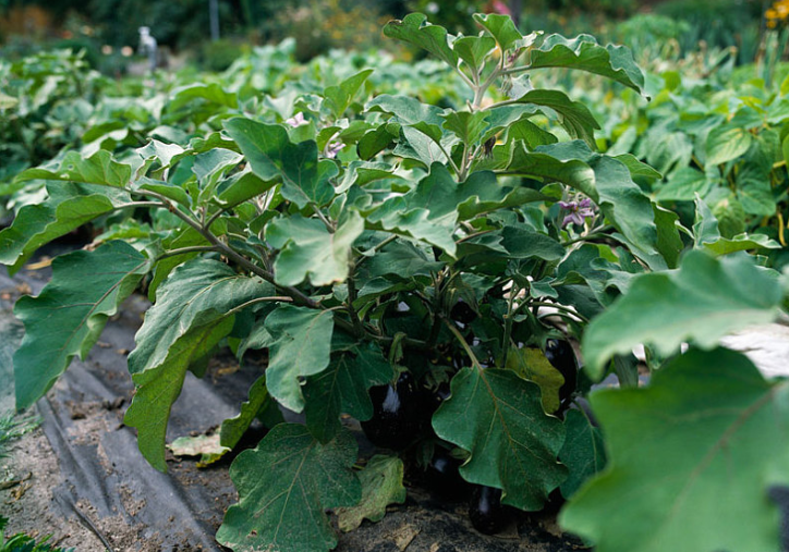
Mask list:
[{"label": "wavy-edged arching leaf at the plant's top, pointing right", "polygon": [[576,69],[611,78],[639,93],[644,88],[644,75],[627,47],[603,47],[590,35],[579,35],[572,40],[550,35],[530,53],[530,69]]}]

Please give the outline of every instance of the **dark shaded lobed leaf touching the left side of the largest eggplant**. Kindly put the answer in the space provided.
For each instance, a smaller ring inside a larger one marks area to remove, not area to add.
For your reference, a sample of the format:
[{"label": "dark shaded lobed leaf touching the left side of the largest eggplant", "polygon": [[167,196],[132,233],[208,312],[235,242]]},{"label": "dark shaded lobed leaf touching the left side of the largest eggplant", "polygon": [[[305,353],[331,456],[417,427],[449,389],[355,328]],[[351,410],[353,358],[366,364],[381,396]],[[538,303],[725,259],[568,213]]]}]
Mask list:
[{"label": "dark shaded lobed leaf touching the left side of the largest eggplant", "polygon": [[367,390],[391,381],[394,370],[374,344],[356,344],[336,354],[329,367],[307,378],[304,385],[307,428],[325,443],[340,431],[340,414],[347,413],[360,421],[373,416],[373,403]]}]

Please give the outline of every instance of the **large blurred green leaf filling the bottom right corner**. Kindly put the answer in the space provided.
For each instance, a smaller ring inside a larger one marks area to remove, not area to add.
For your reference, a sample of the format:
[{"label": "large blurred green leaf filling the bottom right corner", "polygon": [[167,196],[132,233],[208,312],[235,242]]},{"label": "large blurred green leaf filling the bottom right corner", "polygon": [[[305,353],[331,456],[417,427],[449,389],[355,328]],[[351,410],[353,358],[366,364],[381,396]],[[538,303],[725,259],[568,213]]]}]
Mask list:
[{"label": "large blurred green leaf filling the bottom right corner", "polygon": [[599,552],[781,550],[767,498],[789,483],[789,387],[743,355],[691,351],[646,389],[591,397],[608,468],[562,511]]}]

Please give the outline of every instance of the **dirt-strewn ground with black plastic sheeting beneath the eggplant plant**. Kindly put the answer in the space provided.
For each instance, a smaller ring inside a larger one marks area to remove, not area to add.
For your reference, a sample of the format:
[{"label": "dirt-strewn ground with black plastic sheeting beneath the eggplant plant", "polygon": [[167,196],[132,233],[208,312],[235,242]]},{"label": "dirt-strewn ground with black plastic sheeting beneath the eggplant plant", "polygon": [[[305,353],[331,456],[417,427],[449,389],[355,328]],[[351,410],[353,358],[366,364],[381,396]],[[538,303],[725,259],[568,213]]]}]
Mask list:
[{"label": "dirt-strewn ground with black plastic sheeting beneath the eggplant plant", "polygon": [[[40,258],[37,270],[13,280],[0,273],[0,412],[13,406],[13,351],[22,328],[12,306],[22,293],[38,294],[48,279]],[[77,551],[221,551],[214,540],[228,506],[238,500],[228,475],[231,458],[208,468],[196,459],[168,453],[168,473],[151,468],[139,454],[135,432],[122,424],[133,384],[126,355],[148,307],[133,296],[111,318],[88,357],[75,359],[39,401],[41,426],[13,442],[0,459],[0,481],[20,480],[0,490],[7,532],[52,535],[50,542]],[[238,414],[259,363],[239,366],[219,355],[208,373],[191,373],[173,405],[167,440],[208,433]],[[294,420],[298,418],[291,418]],[[354,426],[357,428],[357,424]],[[357,431],[357,429],[356,429]],[[373,447],[356,432],[362,454]],[[248,445],[259,439],[258,431]],[[0,486],[1,488],[2,486]],[[442,500],[415,482],[403,505],[390,507],[377,524],[365,522],[340,535],[339,552],[559,552],[582,543],[562,535],[553,515],[519,517],[502,535],[489,537],[471,527],[466,504]]]}]

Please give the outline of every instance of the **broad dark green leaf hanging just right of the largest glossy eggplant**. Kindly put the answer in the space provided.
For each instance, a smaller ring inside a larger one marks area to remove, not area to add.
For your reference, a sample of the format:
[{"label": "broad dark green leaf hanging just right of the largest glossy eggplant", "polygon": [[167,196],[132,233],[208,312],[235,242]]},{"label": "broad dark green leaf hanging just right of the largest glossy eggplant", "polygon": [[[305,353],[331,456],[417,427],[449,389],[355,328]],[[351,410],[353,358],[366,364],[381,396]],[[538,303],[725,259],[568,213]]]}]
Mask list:
[{"label": "broad dark green leaf hanging just right of the largest glossy eggplant", "polygon": [[543,410],[539,388],[510,370],[466,367],[433,416],[441,439],[469,451],[466,481],[503,489],[502,502],[536,511],[567,477],[556,456],[565,441],[558,418]]}]

